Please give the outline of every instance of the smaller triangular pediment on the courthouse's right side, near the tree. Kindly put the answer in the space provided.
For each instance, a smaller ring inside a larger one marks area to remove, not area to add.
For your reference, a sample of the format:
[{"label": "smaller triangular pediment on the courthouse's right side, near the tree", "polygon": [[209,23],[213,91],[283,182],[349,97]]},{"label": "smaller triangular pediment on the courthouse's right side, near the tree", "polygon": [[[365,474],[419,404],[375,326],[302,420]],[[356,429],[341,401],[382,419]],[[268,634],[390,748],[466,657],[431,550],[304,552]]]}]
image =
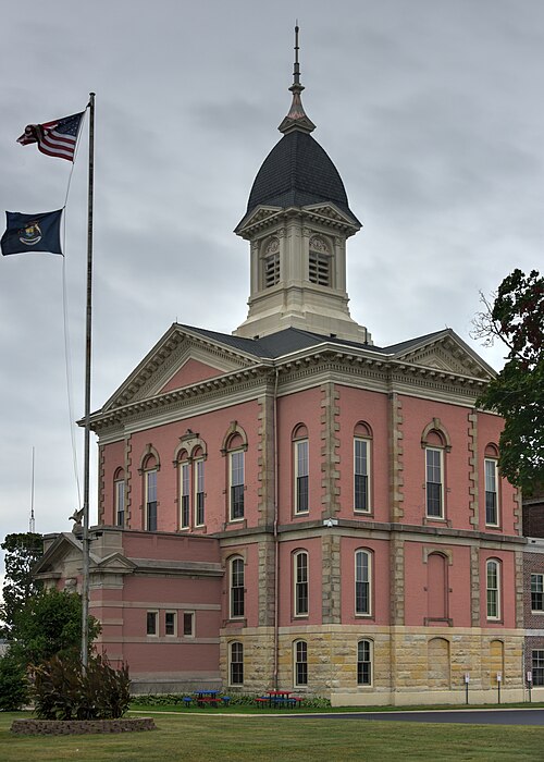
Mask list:
[{"label": "smaller triangular pediment on the courthouse's right side, near the tree", "polygon": [[395,359],[432,368],[442,372],[460,373],[490,380],[495,371],[452,329],[415,339],[393,347]]}]

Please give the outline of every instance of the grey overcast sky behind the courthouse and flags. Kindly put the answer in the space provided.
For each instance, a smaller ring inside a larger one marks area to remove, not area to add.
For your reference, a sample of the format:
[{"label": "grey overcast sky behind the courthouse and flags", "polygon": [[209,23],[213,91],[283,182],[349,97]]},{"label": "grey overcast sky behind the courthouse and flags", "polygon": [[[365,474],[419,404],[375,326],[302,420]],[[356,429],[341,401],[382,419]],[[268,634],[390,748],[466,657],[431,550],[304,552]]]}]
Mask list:
[{"label": "grey overcast sky behind the courthouse and flags", "polygon": [[[7,0],[0,213],[62,207],[71,164],[15,140],[97,94],[92,409],[172,322],[230,333],[245,319],[249,249],[232,231],[281,137],[296,17],[313,136],[363,224],[348,242],[353,317],[381,346],[448,325],[502,366],[469,332],[479,291],[542,269],[542,0]],[[84,132],[66,211],[74,418]],[[69,530],[78,505],[62,293],[60,256],[1,259],[2,538],[28,529],[33,446],[37,531]]]}]

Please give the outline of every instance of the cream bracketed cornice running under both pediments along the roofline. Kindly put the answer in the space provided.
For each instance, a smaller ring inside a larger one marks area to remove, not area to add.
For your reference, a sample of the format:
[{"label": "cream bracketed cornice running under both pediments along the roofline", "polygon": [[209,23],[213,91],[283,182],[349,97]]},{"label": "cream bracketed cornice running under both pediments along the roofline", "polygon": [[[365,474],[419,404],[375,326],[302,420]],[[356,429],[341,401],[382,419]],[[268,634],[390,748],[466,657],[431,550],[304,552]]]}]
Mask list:
[{"label": "cream bracketed cornice running under both pediments along the roofline", "polygon": [[[324,342],[277,360],[261,361],[205,381],[104,409],[91,416],[97,433],[119,440],[131,431],[201,415],[255,400],[280,374],[279,396],[314,388],[325,381],[382,393],[393,391],[472,406],[486,381],[454,371],[411,365],[371,349],[343,351]],[[101,437],[101,443],[107,438]]]}]

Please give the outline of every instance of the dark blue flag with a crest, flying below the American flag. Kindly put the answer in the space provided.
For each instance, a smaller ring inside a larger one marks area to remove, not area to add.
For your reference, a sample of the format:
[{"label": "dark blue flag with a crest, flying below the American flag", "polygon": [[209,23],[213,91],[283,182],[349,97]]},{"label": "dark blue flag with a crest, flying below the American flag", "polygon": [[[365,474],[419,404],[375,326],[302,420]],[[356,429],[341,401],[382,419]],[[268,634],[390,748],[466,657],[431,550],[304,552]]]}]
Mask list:
[{"label": "dark blue flag with a crest, flying below the American flag", "polygon": [[62,209],[38,214],[7,211],[5,217],[8,218],[8,226],[0,241],[4,256],[7,254],[26,254],[27,251],[62,254]]}]

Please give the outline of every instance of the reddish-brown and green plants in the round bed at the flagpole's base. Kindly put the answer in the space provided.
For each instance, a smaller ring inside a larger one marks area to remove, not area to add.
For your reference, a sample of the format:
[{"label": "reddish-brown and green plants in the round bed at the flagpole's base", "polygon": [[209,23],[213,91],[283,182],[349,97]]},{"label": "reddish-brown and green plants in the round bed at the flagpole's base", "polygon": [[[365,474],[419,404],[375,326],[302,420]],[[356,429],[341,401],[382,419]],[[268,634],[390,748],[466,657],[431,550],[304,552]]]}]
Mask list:
[{"label": "reddish-brown and green plants in the round bed at the flagpole's base", "polygon": [[128,708],[128,668],[113,669],[103,655],[89,656],[85,668],[78,656],[53,656],[33,674],[40,720],[115,720]]}]

